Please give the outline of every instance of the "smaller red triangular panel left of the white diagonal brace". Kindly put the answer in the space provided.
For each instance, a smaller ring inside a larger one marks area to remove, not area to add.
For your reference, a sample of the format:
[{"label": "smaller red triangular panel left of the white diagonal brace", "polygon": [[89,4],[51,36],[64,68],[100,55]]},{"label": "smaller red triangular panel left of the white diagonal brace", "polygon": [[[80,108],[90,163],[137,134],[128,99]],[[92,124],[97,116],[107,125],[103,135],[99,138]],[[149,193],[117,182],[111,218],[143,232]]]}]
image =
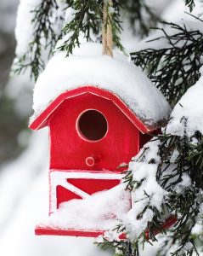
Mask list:
[{"label": "smaller red triangular panel left of the white diagonal brace", "polygon": [[62,186],[56,187],[56,195],[57,195],[57,208],[59,208],[59,204],[65,201],[70,201],[72,199],[82,199],[80,195],[76,195],[68,189],[65,189]]}]

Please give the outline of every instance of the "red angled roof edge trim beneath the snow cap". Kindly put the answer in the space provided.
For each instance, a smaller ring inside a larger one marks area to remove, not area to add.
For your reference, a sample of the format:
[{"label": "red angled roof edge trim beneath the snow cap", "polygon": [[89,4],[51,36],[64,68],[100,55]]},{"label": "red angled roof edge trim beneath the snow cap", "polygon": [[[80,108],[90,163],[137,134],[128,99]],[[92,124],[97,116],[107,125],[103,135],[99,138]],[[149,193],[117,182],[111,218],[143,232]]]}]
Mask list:
[{"label": "red angled roof edge trim beneath the snow cap", "polygon": [[51,102],[48,105],[48,108],[43,110],[42,113],[40,113],[37,116],[37,118],[31,122],[29,127],[32,130],[38,130],[44,126],[47,126],[50,116],[52,115],[52,113],[54,113],[54,111],[57,108],[59,108],[59,106],[61,105],[61,103],[65,101],[65,99],[68,99],[74,96],[81,96],[82,94],[85,94],[85,93],[91,93],[93,95],[106,98],[111,102],[113,102],[116,105],[116,107],[120,108],[121,112],[124,113],[127,116],[127,118],[133,122],[133,125],[135,125],[138,128],[138,130],[141,131],[142,133],[154,131],[158,127],[157,124],[154,124],[152,126],[144,124],[144,122],[138,119],[138,117],[136,117],[136,115],[127,107],[127,105],[124,102],[122,102],[121,99],[118,96],[116,96],[114,93],[108,90],[91,86],[91,85],[78,87],[76,89],[68,90],[60,94],[53,102]]}]

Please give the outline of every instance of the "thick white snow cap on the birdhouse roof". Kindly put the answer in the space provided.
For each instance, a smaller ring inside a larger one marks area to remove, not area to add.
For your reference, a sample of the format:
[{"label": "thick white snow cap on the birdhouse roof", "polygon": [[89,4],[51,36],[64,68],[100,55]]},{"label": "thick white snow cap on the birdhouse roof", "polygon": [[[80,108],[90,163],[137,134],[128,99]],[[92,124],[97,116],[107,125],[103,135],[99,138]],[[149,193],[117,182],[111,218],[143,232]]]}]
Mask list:
[{"label": "thick white snow cap on the birdhouse roof", "polygon": [[116,50],[114,58],[101,53],[102,45],[93,43],[82,44],[68,57],[55,53],[35,85],[34,118],[62,92],[82,85],[115,93],[145,125],[168,118],[168,102],[141,69]]}]

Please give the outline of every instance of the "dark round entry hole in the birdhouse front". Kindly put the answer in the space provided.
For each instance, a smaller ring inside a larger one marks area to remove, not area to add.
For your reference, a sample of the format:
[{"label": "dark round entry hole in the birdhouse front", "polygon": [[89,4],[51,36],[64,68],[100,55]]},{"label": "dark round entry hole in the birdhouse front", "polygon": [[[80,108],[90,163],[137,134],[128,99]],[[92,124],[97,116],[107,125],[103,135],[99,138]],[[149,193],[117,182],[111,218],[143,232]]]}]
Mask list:
[{"label": "dark round entry hole in the birdhouse front", "polygon": [[87,110],[78,120],[78,130],[87,140],[99,141],[108,130],[107,120],[99,111]]}]

